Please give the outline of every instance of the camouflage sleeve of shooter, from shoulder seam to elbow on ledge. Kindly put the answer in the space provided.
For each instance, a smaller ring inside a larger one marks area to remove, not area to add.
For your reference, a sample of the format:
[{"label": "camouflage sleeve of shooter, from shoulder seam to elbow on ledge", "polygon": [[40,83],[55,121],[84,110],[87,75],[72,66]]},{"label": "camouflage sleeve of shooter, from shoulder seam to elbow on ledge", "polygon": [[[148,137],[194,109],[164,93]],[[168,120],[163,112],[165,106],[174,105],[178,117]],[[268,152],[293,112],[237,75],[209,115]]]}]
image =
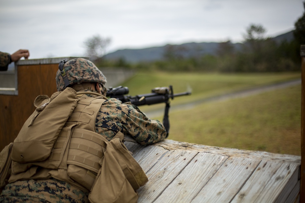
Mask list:
[{"label": "camouflage sleeve of shooter, from shoulder seam to elbow on ledge", "polygon": [[158,120],[149,119],[135,105],[122,104],[123,133],[131,135],[142,145],[160,142],[166,137],[166,130]]}]

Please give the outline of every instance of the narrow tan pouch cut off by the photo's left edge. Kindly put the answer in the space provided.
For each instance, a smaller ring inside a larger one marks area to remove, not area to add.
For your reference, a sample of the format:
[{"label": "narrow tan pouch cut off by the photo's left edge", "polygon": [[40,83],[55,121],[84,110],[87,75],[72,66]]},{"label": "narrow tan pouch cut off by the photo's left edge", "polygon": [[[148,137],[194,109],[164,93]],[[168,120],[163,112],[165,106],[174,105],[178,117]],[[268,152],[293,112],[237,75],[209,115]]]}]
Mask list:
[{"label": "narrow tan pouch cut off by the photo's left edge", "polygon": [[13,143],[5,146],[5,148],[0,152],[0,194],[2,189],[8,183],[10,176],[10,167],[12,163],[11,152]]}]

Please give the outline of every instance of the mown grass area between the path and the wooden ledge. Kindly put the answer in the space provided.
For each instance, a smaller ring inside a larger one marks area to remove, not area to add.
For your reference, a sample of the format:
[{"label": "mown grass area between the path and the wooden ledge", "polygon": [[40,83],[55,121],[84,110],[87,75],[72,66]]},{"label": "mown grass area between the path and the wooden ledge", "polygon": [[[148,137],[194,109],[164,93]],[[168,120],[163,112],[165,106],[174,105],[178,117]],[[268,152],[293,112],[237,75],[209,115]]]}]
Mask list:
[{"label": "mown grass area between the path and the wooden ledge", "polygon": [[177,141],[300,156],[301,86],[173,111],[170,124]]}]

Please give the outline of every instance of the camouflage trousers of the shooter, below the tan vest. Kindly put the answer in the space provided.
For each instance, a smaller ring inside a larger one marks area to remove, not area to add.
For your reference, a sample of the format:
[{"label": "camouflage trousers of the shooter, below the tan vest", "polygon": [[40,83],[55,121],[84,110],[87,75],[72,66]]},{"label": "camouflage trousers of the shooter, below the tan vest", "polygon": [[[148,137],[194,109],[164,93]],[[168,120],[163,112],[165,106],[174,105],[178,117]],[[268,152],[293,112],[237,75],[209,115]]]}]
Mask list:
[{"label": "camouflage trousers of the shooter, below the tan vest", "polygon": [[0,202],[89,202],[88,193],[56,179],[20,180],[7,184]]}]

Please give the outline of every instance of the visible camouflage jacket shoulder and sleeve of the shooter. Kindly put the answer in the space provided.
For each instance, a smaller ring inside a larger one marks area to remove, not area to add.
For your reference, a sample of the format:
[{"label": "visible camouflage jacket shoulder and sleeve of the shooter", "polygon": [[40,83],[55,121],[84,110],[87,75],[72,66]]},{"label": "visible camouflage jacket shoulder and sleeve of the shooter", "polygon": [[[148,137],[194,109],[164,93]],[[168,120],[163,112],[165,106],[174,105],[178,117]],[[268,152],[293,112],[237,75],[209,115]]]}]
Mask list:
[{"label": "visible camouflage jacket shoulder and sleeve of the shooter", "polygon": [[160,142],[166,137],[166,130],[160,121],[149,119],[137,106],[122,104],[114,98],[102,103],[95,119],[95,131],[106,135],[109,141],[121,131],[141,145]]}]

